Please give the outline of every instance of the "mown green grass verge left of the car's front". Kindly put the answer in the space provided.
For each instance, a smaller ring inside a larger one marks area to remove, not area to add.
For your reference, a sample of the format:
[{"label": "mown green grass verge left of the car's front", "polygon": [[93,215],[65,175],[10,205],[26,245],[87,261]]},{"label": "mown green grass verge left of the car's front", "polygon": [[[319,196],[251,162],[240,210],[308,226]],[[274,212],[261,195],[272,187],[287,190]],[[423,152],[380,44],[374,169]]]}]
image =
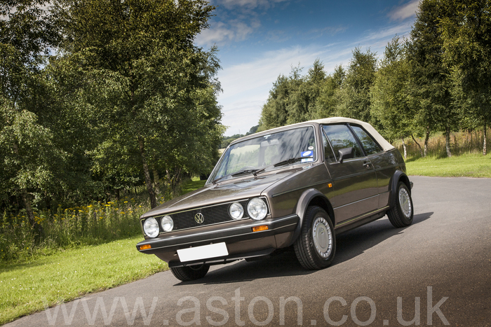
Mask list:
[{"label": "mown green grass verge left of the car's front", "polygon": [[167,263],[137,251],[142,236],[59,251],[27,263],[0,263],[0,325],[86,293],[167,270]]}]

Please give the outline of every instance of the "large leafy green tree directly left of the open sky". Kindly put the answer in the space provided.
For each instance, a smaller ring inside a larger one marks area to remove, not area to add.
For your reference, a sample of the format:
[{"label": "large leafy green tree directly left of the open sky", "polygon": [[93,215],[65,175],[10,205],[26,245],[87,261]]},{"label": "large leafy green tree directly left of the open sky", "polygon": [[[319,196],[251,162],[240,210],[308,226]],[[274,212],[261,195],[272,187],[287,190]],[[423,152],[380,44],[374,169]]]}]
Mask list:
[{"label": "large leafy green tree directly left of the open sky", "polygon": [[103,91],[97,110],[107,120],[100,124],[115,146],[135,142],[156,207],[152,167],[181,169],[192,151],[206,157],[199,139],[219,141],[217,85],[209,74],[217,62],[193,44],[213,7],[203,0],[59,0],[55,8],[60,48],[96,76]]}]

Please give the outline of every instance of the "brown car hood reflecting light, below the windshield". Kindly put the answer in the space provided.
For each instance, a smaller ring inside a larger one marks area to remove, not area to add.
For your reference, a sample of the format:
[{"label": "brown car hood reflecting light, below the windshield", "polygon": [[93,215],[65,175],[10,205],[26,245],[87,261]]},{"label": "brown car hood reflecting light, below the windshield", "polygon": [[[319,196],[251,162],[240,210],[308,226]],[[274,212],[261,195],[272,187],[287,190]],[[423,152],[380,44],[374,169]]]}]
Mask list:
[{"label": "brown car hood reflecting light, below the windshield", "polygon": [[277,183],[281,179],[302,170],[302,167],[281,170],[260,174],[244,176],[238,179],[218,182],[216,185],[210,184],[194,190],[191,193],[175,197],[166,203],[147,211],[140,218],[170,214],[176,211],[183,211],[192,208],[206,207],[212,204],[230,202],[235,200],[247,199],[261,195],[269,186]]}]

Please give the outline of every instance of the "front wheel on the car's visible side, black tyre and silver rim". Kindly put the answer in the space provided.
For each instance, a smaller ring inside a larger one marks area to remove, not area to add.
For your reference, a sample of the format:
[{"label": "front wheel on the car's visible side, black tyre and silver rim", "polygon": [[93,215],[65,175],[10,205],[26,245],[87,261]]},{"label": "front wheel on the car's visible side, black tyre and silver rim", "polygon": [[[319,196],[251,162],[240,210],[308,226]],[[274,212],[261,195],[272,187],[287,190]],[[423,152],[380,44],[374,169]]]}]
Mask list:
[{"label": "front wheel on the car's visible side, black tyre and silver rim", "polygon": [[305,269],[323,269],[332,263],[336,253],[336,235],[324,209],[307,208],[302,231],[293,248],[300,265]]}]

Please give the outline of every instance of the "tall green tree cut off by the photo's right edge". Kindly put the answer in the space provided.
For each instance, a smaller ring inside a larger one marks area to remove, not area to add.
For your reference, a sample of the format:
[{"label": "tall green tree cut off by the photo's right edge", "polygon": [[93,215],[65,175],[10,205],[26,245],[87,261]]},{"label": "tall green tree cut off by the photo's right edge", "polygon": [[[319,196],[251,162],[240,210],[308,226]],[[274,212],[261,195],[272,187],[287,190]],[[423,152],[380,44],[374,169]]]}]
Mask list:
[{"label": "tall green tree cut off by the photo's right edge", "polygon": [[486,130],[491,125],[491,4],[487,0],[445,0],[440,18],[443,62],[452,71],[453,95]]}]

